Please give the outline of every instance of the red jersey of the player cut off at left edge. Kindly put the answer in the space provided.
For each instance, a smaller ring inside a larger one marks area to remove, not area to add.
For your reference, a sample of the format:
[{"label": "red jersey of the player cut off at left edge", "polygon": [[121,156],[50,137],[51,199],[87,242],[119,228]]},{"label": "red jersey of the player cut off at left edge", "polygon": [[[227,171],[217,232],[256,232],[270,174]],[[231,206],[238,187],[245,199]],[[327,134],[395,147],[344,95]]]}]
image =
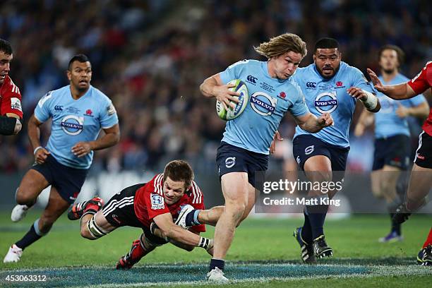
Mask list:
[{"label": "red jersey of the player cut off at left edge", "polygon": [[9,76],[4,78],[0,90],[0,114],[13,113],[23,118],[23,108],[21,107],[21,93]]}]

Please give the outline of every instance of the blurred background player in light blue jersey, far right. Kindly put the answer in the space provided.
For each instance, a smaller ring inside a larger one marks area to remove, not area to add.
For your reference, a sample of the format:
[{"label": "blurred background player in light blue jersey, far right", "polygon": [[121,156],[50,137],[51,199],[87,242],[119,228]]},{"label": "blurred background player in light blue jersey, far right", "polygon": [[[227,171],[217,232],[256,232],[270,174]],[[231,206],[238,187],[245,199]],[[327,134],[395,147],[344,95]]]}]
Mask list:
[{"label": "blurred background player in light blue jersey, far right", "polygon": [[[399,67],[404,59],[404,52],[400,47],[385,45],[380,48],[378,57],[381,83],[394,85],[408,82],[409,79],[399,73]],[[401,199],[397,196],[397,181],[400,173],[409,167],[412,150],[407,117],[414,116],[423,121],[429,114],[429,105],[423,95],[400,101],[393,100],[381,92],[378,92],[377,97],[381,104],[380,112],[371,114],[364,110],[354,134],[363,135],[364,129],[373,124],[375,118],[372,193],[376,198],[385,198],[392,219],[393,213],[401,203]],[[404,188],[402,188],[402,195]],[[390,233],[379,241],[383,243],[402,241],[400,228],[401,224],[392,220]]]}]

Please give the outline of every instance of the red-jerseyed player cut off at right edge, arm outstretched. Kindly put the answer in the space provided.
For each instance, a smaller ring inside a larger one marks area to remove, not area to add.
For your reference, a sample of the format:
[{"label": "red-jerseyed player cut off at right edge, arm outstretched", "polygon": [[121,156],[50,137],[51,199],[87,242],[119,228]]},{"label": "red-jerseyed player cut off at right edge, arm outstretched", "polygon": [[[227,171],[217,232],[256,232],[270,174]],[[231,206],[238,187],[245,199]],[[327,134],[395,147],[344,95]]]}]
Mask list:
[{"label": "red-jerseyed player cut off at right edge, arm outstretched", "polygon": [[[376,73],[371,69],[368,69],[368,73],[376,90],[395,100],[412,98],[431,89],[432,86],[432,61],[428,61],[412,80],[397,85],[384,86]],[[419,135],[419,148],[416,150],[416,158],[409,178],[407,200],[397,208],[393,217],[400,223],[406,221],[412,212],[426,203],[426,196],[432,186],[432,109],[422,128],[423,131]],[[432,229],[417,256],[417,263],[432,265]]]}]

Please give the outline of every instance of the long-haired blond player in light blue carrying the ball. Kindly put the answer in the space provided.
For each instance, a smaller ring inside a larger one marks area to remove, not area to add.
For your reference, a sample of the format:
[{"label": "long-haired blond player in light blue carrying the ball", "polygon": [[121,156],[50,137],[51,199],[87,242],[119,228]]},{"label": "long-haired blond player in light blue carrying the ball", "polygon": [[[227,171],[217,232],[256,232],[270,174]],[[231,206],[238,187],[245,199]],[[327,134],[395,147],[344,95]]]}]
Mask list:
[{"label": "long-haired blond player in light blue carrying the ball", "polygon": [[239,61],[200,85],[205,97],[216,97],[226,107],[234,107],[230,100],[238,102],[239,93],[230,91],[232,85],[227,83],[241,79],[250,97],[244,112],[227,122],[217,150],[225,208],[215,228],[209,281],[227,281],[222,272],[224,258],[236,226],[255,203],[255,188],[260,189],[255,183],[255,172],[268,169],[270,145],[284,114],[290,112],[297,124],[310,133],[332,125],[329,113],[314,116],[309,112],[299,85],[291,78],[306,55],[306,43],[300,37],[289,33],[274,37],[256,47],[256,52],[268,61]]}]

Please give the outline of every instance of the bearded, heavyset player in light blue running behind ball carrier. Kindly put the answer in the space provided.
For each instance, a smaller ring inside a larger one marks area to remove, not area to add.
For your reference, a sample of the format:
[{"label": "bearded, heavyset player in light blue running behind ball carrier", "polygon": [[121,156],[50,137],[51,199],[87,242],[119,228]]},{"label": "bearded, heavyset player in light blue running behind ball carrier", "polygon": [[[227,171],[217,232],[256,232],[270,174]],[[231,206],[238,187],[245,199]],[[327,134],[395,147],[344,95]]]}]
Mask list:
[{"label": "bearded, heavyset player in light blue running behind ball carrier", "polygon": [[[312,114],[328,112],[335,125],[311,134],[296,127],[293,154],[299,167],[312,183],[343,180],[349,151],[349,126],[356,100],[366,109],[378,112],[380,104],[373,87],[359,69],[341,61],[339,43],[332,38],[318,40],[313,53],[313,64],[297,69],[293,78],[299,84]],[[332,198],[318,190],[309,191],[311,197]],[[320,201],[318,201],[320,203]],[[301,258],[315,263],[316,258],[332,256],[332,248],[325,242],[324,222],[328,205],[306,205],[304,225],[295,229],[294,236],[301,246]]]}]

